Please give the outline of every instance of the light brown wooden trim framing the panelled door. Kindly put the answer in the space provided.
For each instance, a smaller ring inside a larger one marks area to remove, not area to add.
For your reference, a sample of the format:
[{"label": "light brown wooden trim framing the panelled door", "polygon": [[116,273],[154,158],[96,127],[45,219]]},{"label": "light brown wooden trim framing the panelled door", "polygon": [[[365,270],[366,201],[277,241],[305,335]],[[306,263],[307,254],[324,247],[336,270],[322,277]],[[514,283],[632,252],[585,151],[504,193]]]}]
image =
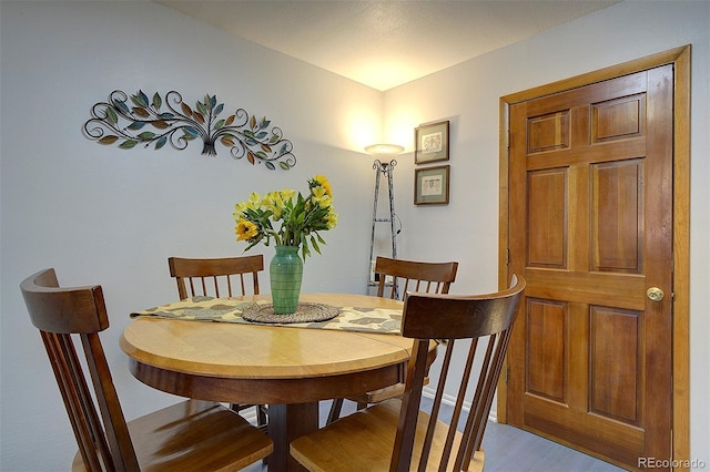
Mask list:
[{"label": "light brown wooden trim framing the panelled door", "polygon": [[[672,459],[690,458],[690,44],[504,95],[499,100],[498,286],[508,286],[509,109],[516,103],[673,64]],[[506,370],[507,372],[507,360]],[[507,376],[498,382],[497,421],[507,423]],[[688,470],[688,469],[677,469]]]}]

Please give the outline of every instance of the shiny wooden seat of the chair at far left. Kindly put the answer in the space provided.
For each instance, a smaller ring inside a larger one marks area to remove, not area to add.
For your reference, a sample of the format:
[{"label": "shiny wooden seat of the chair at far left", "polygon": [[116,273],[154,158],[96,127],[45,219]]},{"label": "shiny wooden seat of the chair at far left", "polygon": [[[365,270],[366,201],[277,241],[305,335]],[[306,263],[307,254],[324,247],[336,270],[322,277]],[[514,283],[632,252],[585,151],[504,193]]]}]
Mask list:
[{"label": "shiny wooden seat of the chair at far left", "polygon": [[[214,402],[183,401],[128,425],[143,472],[235,471],[273,450],[271,440],[258,429]],[[77,453],[72,471],[85,470]]]}]

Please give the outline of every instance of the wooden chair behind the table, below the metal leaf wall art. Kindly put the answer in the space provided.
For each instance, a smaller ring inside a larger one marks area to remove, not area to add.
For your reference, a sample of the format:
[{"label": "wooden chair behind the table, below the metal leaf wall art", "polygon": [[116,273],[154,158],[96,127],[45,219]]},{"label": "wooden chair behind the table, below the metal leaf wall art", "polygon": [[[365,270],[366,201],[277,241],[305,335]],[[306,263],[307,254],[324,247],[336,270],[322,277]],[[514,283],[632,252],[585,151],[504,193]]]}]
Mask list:
[{"label": "wooden chair behind the table, below the metal leaf wall art", "polygon": [[[264,256],[260,254],[212,259],[169,257],[168,266],[171,277],[178,283],[181,300],[199,295],[216,298],[258,295],[258,273],[264,270]],[[234,411],[252,407],[256,409],[257,424],[266,428],[268,408],[265,404],[232,404]]]}]

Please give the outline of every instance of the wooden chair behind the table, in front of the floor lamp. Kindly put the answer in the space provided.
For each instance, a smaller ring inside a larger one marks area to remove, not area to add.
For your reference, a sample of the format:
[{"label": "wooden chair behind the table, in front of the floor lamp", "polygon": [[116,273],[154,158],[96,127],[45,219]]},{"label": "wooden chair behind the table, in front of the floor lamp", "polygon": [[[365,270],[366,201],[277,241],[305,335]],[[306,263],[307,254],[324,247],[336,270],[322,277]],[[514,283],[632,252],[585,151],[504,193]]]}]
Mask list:
[{"label": "wooden chair behind the table, in front of the floor lamp", "polygon": [[[456,280],[458,263],[422,263],[416,260],[392,259],[378,256],[375,259],[375,280],[377,296],[392,299],[407,290],[427,294],[448,294]],[[404,383],[395,383],[384,389],[347,397],[362,410],[372,403],[396,398],[404,392]],[[343,399],[336,398],[331,404],[327,422],[337,420],[343,409]]]}]

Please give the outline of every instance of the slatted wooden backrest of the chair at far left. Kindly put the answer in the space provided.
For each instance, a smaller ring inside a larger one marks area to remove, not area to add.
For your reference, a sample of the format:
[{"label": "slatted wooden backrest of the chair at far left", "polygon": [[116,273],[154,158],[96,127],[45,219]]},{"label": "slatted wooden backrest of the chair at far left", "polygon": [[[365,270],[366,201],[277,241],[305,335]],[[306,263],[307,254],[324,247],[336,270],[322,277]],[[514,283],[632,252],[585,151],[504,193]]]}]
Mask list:
[{"label": "slatted wooden backrest of the chair at far left", "polygon": [[[135,450],[99,339],[99,331],[109,327],[101,287],[59,288],[54,270],[47,269],[24,279],[20,289],[44,341],[84,464],[89,470],[138,471]],[[91,390],[72,335],[81,339]]]}]

